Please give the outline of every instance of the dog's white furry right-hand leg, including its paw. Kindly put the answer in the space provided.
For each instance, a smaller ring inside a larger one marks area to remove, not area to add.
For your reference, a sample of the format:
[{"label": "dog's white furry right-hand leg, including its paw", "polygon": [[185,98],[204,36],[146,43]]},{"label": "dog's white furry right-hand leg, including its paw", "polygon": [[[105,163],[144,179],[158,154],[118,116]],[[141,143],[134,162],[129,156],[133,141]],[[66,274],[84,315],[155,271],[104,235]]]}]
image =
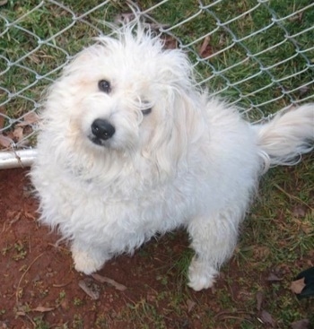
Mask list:
[{"label": "dog's white furry right-hand leg, including its paw", "polygon": [[239,222],[228,212],[190,222],[188,233],[196,255],[188,268],[189,287],[198,291],[213,286],[220,266],[234,250]]}]

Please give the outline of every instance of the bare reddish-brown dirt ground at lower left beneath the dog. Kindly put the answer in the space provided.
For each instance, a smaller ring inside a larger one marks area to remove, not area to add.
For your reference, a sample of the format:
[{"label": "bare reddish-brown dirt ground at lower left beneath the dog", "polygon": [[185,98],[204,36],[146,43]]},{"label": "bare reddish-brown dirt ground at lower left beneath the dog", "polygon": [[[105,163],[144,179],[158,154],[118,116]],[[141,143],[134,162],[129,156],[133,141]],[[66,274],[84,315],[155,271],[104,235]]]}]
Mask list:
[{"label": "bare reddish-brown dirt ground at lower left beneath the dog", "polygon": [[[174,255],[187,249],[185,234],[179,233],[175,240],[161,238],[157,252],[152,242],[133,257],[119,256],[106,264],[100,274],[127,287],[117,290],[74,271],[67,247],[56,247],[57,234],[49,234],[48,228],[37,222],[38,203],[31,197],[26,173],[22,169],[0,170],[0,328],[36,327],[39,320],[34,318],[40,316],[54,328],[64,324],[77,328],[136,328],[118,315],[126,305],[154,301],[157,294],[168,289],[158,273],[170,269],[167,249]],[[99,291],[99,299],[93,300],[79,287],[83,280],[92,285],[92,291]],[[182,307],[188,309],[187,305]],[[75,316],[82,317],[83,325],[75,326]],[[106,317],[106,325],[101,325],[101,316]],[[188,318],[174,315],[169,316],[168,327],[200,327],[197,322],[190,326]]]}]

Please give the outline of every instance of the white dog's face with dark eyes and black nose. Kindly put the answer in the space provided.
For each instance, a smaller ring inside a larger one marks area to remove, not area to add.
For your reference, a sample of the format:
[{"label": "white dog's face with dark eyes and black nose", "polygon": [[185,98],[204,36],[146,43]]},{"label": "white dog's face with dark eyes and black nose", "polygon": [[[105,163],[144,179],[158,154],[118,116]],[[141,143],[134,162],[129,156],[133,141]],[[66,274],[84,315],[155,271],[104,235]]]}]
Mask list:
[{"label": "white dog's face with dark eyes and black nose", "polygon": [[156,107],[164,91],[152,67],[127,48],[99,45],[77,56],[65,79],[74,89],[67,114],[80,138],[91,147],[136,148],[158,115],[162,120]]}]

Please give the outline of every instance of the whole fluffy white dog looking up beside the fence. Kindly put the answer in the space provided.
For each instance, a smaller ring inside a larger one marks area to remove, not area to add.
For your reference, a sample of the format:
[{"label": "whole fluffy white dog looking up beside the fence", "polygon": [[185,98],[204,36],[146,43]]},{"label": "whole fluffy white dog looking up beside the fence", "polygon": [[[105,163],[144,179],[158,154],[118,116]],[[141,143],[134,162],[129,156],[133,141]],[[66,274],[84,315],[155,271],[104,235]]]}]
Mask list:
[{"label": "whole fluffy white dog looking up beside the fence", "polygon": [[258,177],[310,152],[313,139],[314,104],[252,126],[196,90],[186,54],[126,25],[79,53],[48,91],[31,171],[40,221],[86,274],[184,227],[195,250],[188,284],[202,290],[232,254]]}]

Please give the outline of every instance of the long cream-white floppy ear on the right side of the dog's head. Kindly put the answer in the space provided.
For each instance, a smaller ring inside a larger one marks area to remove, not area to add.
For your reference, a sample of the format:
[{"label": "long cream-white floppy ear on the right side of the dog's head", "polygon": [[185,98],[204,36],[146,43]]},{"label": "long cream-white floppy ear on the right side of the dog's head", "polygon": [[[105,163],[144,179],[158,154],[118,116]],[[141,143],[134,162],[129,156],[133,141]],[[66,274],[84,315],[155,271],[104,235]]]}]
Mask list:
[{"label": "long cream-white floppy ear on the right side of the dog's head", "polygon": [[[162,113],[153,130],[150,142],[145,145],[144,156],[154,161],[161,178],[173,177],[175,172],[188,166],[188,149],[195,146],[197,136],[203,134],[196,111],[199,98],[176,86],[169,87],[154,110]],[[161,119],[161,122],[160,122]]]}]

